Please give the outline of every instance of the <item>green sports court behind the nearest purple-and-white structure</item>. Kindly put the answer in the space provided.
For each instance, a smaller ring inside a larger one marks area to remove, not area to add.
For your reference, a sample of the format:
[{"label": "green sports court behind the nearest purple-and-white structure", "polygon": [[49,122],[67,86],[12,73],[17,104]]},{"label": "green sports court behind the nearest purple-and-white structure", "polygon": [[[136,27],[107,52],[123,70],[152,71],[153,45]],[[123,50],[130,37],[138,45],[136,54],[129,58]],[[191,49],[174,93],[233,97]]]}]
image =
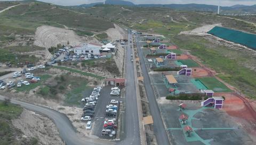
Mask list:
[{"label": "green sports court behind the nearest purple-and-white structure", "polygon": [[215,77],[200,77],[196,78],[207,87],[208,90],[213,90],[214,92],[231,92],[231,90],[223,83],[221,83]]}]

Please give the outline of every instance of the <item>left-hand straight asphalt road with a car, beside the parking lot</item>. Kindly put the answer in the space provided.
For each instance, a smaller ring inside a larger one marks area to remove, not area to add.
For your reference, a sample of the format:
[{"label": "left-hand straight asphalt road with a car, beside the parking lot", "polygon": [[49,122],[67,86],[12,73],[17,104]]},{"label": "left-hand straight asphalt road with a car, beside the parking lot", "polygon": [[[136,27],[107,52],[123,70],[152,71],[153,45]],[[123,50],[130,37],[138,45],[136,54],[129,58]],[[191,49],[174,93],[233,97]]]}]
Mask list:
[{"label": "left-hand straight asphalt road with a car, beside the parking lot", "polygon": [[124,140],[118,144],[141,144],[140,142],[140,129],[139,129],[139,116],[137,107],[137,95],[135,91],[135,78],[134,68],[131,62],[132,54],[132,39],[131,30],[128,31],[128,45],[125,52],[125,117],[124,117]]}]

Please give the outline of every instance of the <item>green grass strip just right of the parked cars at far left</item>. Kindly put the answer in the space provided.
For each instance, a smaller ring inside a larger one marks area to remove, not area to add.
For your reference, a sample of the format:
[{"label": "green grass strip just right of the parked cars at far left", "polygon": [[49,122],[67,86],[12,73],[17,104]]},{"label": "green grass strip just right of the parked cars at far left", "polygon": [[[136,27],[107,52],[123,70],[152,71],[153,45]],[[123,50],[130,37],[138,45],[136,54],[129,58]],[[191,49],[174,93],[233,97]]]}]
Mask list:
[{"label": "green grass strip just right of the parked cars at far left", "polygon": [[30,85],[26,86],[26,85],[22,85],[21,87],[15,87],[15,89],[19,92],[22,92],[22,91],[30,91],[34,88],[36,88],[37,86],[41,86],[42,83],[47,80],[48,78],[51,77],[51,75],[42,75],[42,76],[39,76],[41,77],[41,79],[37,82],[37,83],[31,83]]}]

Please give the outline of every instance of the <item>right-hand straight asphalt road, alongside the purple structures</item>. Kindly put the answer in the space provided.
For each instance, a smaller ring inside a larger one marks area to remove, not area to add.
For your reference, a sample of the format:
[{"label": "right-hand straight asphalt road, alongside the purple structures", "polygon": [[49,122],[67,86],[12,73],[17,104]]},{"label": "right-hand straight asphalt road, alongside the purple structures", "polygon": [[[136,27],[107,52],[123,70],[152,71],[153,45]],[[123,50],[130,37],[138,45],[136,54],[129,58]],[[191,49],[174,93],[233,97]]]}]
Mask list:
[{"label": "right-hand straight asphalt road, alongside the purple structures", "polygon": [[161,112],[159,111],[158,106],[157,106],[154,90],[153,90],[153,87],[151,86],[148,71],[147,71],[147,68],[145,65],[145,60],[143,59],[142,50],[140,48],[141,46],[139,44],[139,40],[137,39],[137,37],[135,38],[135,41],[137,44],[138,54],[139,54],[139,58],[141,61],[141,69],[142,69],[142,73],[144,76],[144,85],[145,85],[145,89],[146,89],[146,93],[147,93],[147,97],[148,97],[149,108],[150,108],[151,115],[153,116],[154,133],[157,138],[157,143],[158,144],[170,144],[168,136],[165,132],[165,127],[163,124],[163,120],[161,118]]}]

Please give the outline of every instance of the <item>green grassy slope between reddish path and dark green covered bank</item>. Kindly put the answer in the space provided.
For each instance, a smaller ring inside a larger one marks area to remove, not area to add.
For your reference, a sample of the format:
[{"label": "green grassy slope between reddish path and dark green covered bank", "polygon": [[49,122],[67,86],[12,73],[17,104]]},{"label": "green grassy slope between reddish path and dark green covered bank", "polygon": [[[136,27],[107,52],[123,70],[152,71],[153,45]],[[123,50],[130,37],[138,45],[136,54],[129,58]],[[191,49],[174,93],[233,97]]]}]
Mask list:
[{"label": "green grassy slope between reddish path and dark green covered bank", "polygon": [[207,67],[219,72],[218,76],[222,80],[255,98],[256,74],[254,70],[246,68],[248,65],[255,65],[252,63],[255,58],[250,52],[217,45],[198,36],[182,35],[174,37],[173,40],[181,49],[190,50]]}]

